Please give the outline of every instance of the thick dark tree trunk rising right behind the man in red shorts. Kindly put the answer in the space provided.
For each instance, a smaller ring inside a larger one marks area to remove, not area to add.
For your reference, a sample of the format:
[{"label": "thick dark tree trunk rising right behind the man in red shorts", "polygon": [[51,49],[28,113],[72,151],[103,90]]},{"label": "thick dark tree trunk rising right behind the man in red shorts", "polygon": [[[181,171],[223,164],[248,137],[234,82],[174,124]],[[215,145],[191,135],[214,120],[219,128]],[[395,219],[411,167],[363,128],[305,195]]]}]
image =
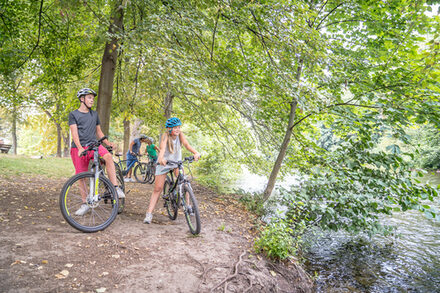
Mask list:
[{"label": "thick dark tree trunk rising right behind the man in red shorts", "polygon": [[105,44],[104,55],[101,63],[101,77],[99,79],[97,111],[101,120],[101,129],[108,135],[110,128],[110,112],[113,96],[113,80],[115,77],[116,60],[118,58],[118,38],[116,33],[123,29],[124,10],[122,0],[115,1],[109,34],[112,39]]}]

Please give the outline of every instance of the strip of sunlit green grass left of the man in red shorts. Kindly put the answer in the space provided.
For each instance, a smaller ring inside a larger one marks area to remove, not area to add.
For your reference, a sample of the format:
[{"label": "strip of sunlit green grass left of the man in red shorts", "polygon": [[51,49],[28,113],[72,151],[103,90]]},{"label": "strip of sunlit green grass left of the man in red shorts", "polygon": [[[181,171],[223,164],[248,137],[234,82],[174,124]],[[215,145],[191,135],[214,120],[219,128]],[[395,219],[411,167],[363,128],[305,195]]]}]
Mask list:
[{"label": "strip of sunlit green grass left of the man in red shorts", "polygon": [[70,158],[44,157],[33,159],[27,156],[0,154],[0,175],[44,176],[50,178],[69,178],[74,172]]}]

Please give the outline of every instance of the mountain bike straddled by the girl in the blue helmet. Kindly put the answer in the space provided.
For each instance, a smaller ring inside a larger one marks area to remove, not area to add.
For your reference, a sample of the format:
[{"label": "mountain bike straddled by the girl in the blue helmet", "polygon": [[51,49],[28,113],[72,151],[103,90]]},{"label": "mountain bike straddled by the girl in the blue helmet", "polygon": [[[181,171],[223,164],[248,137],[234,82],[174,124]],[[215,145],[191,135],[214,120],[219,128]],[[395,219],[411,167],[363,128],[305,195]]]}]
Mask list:
[{"label": "mountain bike straddled by the girl in the blue helmet", "polygon": [[193,156],[186,157],[183,161],[178,162],[167,161],[168,165],[177,165],[179,174],[177,178],[174,178],[173,170],[167,174],[162,197],[165,200],[164,206],[167,209],[168,217],[175,220],[179,207],[182,207],[190,232],[197,235],[201,229],[199,206],[191,187],[191,181],[188,176],[185,176],[183,168],[185,162],[188,162],[189,168],[189,163],[193,161]]}]

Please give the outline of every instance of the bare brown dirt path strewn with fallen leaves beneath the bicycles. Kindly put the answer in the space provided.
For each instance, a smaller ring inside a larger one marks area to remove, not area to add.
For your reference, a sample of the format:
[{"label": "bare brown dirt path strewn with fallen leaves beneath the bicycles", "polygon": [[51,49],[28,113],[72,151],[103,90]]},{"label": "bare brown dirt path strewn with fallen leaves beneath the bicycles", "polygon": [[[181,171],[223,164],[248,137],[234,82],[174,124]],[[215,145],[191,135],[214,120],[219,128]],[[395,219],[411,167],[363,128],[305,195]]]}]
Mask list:
[{"label": "bare brown dirt path strewn with fallen leaves beneath the bicycles", "polygon": [[63,184],[0,177],[0,292],[312,290],[294,264],[253,253],[254,220],[231,198],[194,186],[202,232],[193,237],[181,214],[168,219],[162,201],[153,223],[143,224],[152,187],[128,183],[124,213],[105,231],[85,234],[60,213]]}]

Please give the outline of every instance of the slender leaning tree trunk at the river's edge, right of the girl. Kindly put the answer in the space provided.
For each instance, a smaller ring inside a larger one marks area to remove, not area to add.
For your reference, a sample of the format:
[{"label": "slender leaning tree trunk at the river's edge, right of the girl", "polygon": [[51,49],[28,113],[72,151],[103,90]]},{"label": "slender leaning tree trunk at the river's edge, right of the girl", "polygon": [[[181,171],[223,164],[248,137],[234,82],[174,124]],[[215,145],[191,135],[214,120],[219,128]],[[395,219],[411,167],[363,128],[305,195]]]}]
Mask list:
[{"label": "slender leaning tree trunk at the river's edge, right of the girl", "polygon": [[[298,93],[300,92],[299,81],[301,78],[303,62],[304,61],[302,59],[299,60],[298,62],[299,64],[295,76],[295,79],[298,81],[298,90],[297,90]],[[281,144],[280,152],[278,153],[272,172],[270,173],[269,181],[267,182],[266,189],[264,190],[263,201],[268,200],[268,198],[272,194],[278,173],[280,172],[281,169],[281,164],[283,163],[284,157],[286,156],[287,147],[289,146],[290,138],[292,137],[293,127],[295,125],[294,123],[295,123],[297,105],[298,105],[298,100],[296,98],[293,98],[292,101],[290,102],[289,122],[287,123],[286,133],[284,135],[283,143]]]}]

